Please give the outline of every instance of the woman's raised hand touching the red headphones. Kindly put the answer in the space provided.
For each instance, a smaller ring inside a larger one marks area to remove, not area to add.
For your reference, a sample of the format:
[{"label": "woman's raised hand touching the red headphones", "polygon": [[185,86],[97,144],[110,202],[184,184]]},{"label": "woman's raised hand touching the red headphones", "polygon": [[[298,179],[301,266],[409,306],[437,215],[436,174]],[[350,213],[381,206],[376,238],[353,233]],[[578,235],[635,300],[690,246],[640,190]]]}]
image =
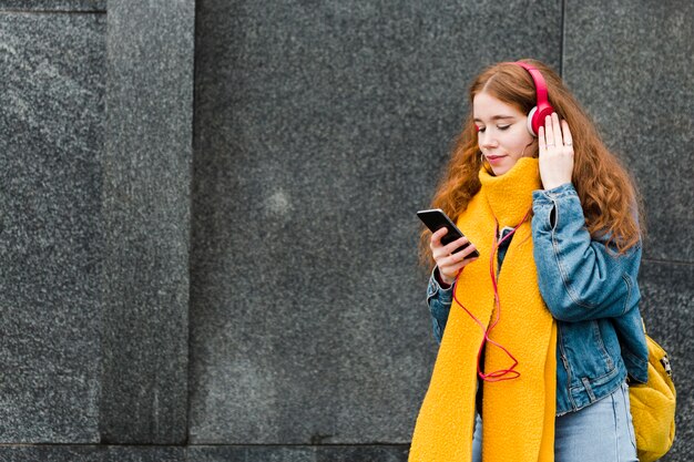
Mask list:
[{"label": "woman's raised hand touching the red headphones", "polygon": [[573,172],[573,141],[567,121],[559,121],[555,112],[547,116],[538,133],[540,177],[545,189],[571,183]]}]

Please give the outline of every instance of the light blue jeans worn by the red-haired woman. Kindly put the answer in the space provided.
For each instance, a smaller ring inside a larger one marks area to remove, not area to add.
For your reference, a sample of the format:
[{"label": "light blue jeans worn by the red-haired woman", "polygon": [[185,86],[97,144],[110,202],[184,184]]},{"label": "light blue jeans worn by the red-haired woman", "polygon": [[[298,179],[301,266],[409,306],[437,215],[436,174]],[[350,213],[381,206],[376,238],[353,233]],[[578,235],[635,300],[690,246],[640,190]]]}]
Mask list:
[{"label": "light blue jeans worn by the red-haired woman", "polygon": [[[482,420],[474,421],[472,462],[481,462]],[[554,421],[555,462],[637,462],[629,387]]]}]

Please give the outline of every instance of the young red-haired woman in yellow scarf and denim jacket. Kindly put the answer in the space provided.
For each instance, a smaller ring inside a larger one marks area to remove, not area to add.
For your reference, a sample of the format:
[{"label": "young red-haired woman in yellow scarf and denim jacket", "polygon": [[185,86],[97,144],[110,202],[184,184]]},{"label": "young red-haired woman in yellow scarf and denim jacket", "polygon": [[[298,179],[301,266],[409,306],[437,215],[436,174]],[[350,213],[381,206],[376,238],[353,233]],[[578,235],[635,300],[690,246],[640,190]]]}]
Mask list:
[{"label": "young red-haired woman in yellow scarf and denim jacket", "polygon": [[636,461],[634,185],[541,62],[490,66],[469,97],[432,202],[466,237],[422,234],[441,345],[410,461]]}]

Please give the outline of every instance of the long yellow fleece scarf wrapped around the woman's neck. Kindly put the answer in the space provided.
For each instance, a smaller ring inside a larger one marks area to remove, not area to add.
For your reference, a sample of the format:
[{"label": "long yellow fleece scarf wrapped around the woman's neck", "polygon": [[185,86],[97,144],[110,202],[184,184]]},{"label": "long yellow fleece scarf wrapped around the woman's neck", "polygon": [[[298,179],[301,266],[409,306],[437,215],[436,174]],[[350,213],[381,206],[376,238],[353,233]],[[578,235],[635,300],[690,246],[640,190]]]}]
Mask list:
[{"label": "long yellow fleece scarf wrapped around the woman's neck", "polygon": [[[483,168],[482,187],[460,216],[458,227],[480,258],[456,285],[458,300],[482,324],[496,318],[489,273],[496,220],[499,229],[518,225],[540,188],[538,160],[523,157],[509,172]],[[494,265],[497,258],[493,258]],[[496,270],[496,269],[494,269]],[[501,317],[490,338],[517,359],[520,377],[483,382],[484,462],[552,462],[557,384],[557,327],[538,288],[530,219],[516,232],[498,278]],[[453,301],[429,390],[410,448],[410,462],[469,462],[472,458],[477,353],[482,329]],[[483,371],[508,369],[512,360],[487,343]]]}]

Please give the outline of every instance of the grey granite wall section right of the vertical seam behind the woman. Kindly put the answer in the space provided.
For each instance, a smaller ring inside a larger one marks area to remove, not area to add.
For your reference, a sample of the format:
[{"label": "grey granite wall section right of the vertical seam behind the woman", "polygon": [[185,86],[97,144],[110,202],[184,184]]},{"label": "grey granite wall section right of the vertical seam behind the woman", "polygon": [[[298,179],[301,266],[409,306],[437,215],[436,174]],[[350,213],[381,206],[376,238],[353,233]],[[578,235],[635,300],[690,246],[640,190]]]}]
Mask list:
[{"label": "grey granite wall section right of the vertical seam behind the woman", "polygon": [[[677,439],[665,461],[694,455],[694,3],[567,2],[564,79],[633,172],[646,206],[640,285],[652,336],[671,353]],[[687,25],[688,24],[688,25]]]}]

